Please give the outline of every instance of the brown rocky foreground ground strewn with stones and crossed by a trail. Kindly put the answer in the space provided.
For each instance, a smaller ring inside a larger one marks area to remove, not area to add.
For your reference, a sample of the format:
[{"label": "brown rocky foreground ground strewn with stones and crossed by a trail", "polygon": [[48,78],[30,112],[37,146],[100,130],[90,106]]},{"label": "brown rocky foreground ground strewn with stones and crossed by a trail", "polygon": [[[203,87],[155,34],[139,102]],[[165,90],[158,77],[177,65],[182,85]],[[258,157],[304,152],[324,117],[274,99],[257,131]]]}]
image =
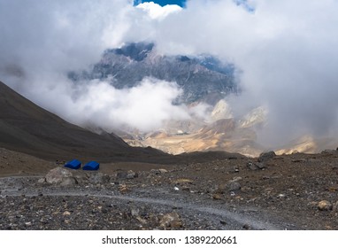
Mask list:
[{"label": "brown rocky foreground ground strewn with stones and crossed by a trail", "polygon": [[63,168],[0,150],[0,229],[338,229],[338,151]]}]

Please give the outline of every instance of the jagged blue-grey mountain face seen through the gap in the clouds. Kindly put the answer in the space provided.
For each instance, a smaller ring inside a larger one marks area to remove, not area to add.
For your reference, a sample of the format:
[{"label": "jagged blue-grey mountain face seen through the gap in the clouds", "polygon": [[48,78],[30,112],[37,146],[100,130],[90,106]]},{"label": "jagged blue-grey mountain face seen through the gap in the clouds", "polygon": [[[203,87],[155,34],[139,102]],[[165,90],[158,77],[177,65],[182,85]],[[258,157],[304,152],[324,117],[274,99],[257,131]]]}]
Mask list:
[{"label": "jagged blue-grey mountain face seen through the gap in the clouds", "polygon": [[204,56],[163,56],[153,43],[130,43],[120,49],[104,52],[92,71],[72,72],[73,81],[85,79],[108,80],[117,88],[134,87],[144,77],[176,81],[183,94],[178,103],[203,100],[212,105],[228,93],[237,92],[234,66],[223,65],[217,58]]}]

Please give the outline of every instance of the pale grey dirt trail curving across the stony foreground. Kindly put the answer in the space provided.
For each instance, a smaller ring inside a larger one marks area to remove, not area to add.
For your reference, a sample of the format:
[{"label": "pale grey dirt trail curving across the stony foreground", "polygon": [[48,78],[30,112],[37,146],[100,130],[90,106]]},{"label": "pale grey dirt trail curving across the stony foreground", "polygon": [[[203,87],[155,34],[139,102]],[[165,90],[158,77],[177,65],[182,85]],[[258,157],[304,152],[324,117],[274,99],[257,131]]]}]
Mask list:
[{"label": "pale grey dirt trail curving across the stony foreground", "polygon": [[[250,229],[285,229],[273,221],[264,220],[262,216],[252,216],[250,213],[257,213],[257,211],[242,211],[242,213],[235,213],[227,210],[222,206],[208,206],[207,204],[201,205],[191,202],[187,198],[181,198],[179,200],[169,200],[166,194],[156,194],[152,198],[146,198],[135,195],[121,195],[119,192],[112,192],[108,190],[88,190],[82,188],[80,190],[71,189],[35,189],[25,188],[27,186],[25,182],[29,180],[37,181],[36,176],[15,176],[15,177],[3,177],[0,178],[0,186],[2,191],[0,197],[8,198],[36,198],[38,196],[43,197],[81,197],[81,198],[98,198],[98,199],[109,199],[114,204],[125,205],[126,202],[133,202],[134,204],[151,205],[152,208],[156,209],[158,206],[166,206],[172,209],[176,209],[182,216],[196,215],[208,216],[208,220],[214,222],[215,225],[219,225],[219,220],[227,222],[228,227],[235,229],[242,229],[243,226],[248,226]],[[26,184],[26,185],[25,185]],[[161,190],[157,190],[160,192]],[[155,192],[155,191],[154,191]],[[165,197],[165,198],[164,198]],[[251,215],[251,216],[250,216]],[[190,216],[191,218],[191,216]]]}]

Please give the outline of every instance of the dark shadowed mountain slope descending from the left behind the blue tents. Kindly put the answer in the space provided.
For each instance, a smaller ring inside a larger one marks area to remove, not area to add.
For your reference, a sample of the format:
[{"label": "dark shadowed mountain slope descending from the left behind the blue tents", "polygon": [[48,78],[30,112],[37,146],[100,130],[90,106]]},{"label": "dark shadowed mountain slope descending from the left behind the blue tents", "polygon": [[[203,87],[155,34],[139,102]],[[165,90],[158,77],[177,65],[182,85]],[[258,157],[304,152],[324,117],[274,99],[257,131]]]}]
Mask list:
[{"label": "dark shadowed mountain slope descending from the left behind the blue tents", "polygon": [[133,148],[113,135],[100,136],[62,120],[0,81],[0,147],[42,159],[149,160],[167,155]]}]

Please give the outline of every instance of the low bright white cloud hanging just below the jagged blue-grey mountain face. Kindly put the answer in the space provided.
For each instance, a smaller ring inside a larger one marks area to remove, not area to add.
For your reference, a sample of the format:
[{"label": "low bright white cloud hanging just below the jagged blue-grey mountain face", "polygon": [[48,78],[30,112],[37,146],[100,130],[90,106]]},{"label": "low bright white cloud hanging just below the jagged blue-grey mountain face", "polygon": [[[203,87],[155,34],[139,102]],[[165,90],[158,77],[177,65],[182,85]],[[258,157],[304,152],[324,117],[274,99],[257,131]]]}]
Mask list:
[{"label": "low bright white cloud hanging just below the jagged blue-grey mountain face", "polygon": [[35,102],[80,126],[94,124],[106,131],[114,128],[150,131],[161,128],[165,120],[190,119],[186,107],[173,105],[181,94],[174,82],[145,78],[133,88],[115,89],[108,81],[81,81],[74,85],[59,77],[58,84],[39,87],[43,81],[56,79],[56,76],[35,79],[35,87],[25,89],[25,94],[29,98],[40,96]]}]

